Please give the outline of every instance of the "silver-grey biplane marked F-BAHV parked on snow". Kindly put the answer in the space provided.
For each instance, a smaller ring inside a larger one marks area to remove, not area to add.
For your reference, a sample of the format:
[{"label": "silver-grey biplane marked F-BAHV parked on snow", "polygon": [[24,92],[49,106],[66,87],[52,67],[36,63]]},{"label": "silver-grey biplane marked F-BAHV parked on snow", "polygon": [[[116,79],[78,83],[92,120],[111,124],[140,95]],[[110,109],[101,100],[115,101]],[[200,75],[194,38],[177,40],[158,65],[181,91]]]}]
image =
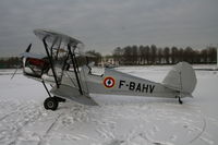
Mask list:
[{"label": "silver-grey biplane marked F-BAHV parked on snow", "polygon": [[[21,55],[23,74],[43,83],[49,96],[44,101],[46,109],[56,110],[65,99],[97,105],[90,94],[178,98],[182,104],[181,98],[192,97],[196,85],[195,72],[186,62],[174,65],[162,83],[108,68],[97,75],[92,72],[90,56],[83,52],[81,40],[47,29],[35,29],[34,34],[43,41],[46,55],[32,53],[29,45]],[[50,90],[46,84],[51,86]]]}]

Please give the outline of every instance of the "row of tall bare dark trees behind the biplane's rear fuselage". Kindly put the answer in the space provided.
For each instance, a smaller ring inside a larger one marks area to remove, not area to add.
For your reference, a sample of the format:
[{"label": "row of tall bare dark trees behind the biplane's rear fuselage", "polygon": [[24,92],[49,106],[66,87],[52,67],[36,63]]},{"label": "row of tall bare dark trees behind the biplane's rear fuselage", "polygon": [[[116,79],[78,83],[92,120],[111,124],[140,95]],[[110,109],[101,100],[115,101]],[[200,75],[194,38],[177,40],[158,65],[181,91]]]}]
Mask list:
[{"label": "row of tall bare dark trees behind the biplane's rear fuselage", "polygon": [[126,46],[117,47],[112,57],[116,62],[123,65],[144,64],[174,64],[180,61],[194,63],[216,63],[217,48],[207,47],[198,50],[191,47],[156,47],[152,46]]}]

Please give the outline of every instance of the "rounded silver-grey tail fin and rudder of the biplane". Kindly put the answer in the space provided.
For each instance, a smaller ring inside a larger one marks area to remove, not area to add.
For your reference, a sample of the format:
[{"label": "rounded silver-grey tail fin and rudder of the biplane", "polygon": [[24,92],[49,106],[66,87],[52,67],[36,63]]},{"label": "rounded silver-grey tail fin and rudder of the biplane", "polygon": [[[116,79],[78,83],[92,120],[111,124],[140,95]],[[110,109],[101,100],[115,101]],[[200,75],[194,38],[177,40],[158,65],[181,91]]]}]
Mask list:
[{"label": "rounded silver-grey tail fin and rudder of the biplane", "polygon": [[191,95],[196,86],[196,75],[191,64],[180,62],[167,74],[162,84],[171,89]]}]

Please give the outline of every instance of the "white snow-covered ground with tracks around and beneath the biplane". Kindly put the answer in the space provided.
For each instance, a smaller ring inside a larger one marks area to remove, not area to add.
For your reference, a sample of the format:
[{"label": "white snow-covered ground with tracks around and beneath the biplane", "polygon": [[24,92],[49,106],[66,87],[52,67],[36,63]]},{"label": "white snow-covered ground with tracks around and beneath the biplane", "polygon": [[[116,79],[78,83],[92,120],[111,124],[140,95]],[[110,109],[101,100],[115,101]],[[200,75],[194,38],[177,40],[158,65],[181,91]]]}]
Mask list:
[{"label": "white snow-covered ground with tracks around and beneath the biplane", "polygon": [[[161,82],[171,67],[117,70]],[[208,68],[197,65],[195,68]],[[210,65],[209,68],[215,68]],[[36,81],[0,70],[1,145],[216,145],[218,72],[196,71],[194,98],[92,95],[100,106],[61,104],[45,110],[47,93]]]}]

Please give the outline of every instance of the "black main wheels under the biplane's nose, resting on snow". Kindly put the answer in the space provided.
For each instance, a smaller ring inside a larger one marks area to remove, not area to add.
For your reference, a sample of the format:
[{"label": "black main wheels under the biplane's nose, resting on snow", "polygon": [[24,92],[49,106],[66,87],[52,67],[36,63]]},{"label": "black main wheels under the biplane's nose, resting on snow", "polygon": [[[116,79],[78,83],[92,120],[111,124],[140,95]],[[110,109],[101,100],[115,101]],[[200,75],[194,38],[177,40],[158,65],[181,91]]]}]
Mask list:
[{"label": "black main wheels under the biplane's nose, resting on snow", "polygon": [[45,101],[44,101],[44,107],[46,110],[57,110],[59,102],[64,102],[65,99],[60,98],[60,97],[48,97]]}]

